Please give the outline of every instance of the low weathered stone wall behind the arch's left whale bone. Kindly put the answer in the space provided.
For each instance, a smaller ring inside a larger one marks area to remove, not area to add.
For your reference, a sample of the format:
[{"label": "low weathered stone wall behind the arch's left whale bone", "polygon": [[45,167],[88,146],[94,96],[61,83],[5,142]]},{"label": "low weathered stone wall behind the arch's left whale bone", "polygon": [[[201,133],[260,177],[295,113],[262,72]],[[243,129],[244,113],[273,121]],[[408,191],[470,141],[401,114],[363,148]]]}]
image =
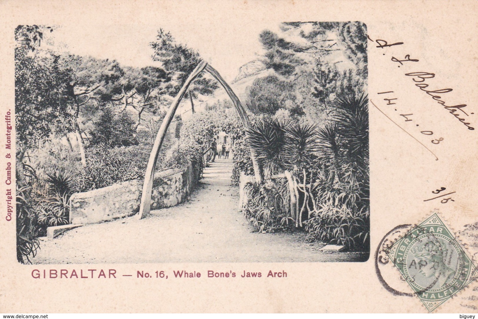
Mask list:
[{"label": "low weathered stone wall behind the arch's left whale bone", "polygon": [[[151,209],[184,202],[199,177],[199,169],[191,164],[184,169],[157,172],[153,179]],[[70,223],[100,223],[137,213],[142,187],[142,180],[132,180],[75,193],[70,198]]]}]

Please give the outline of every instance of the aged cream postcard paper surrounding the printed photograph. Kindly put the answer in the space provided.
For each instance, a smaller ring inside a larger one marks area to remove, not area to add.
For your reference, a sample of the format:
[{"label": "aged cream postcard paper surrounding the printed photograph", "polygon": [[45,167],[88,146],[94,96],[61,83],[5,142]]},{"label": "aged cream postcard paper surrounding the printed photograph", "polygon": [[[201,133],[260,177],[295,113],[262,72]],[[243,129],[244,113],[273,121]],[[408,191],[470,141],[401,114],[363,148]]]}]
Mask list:
[{"label": "aged cream postcard paper surrounding the printed photograph", "polygon": [[[2,118],[7,111],[13,112],[15,105],[13,35],[18,25],[63,26],[72,30],[67,36],[75,38],[72,43],[78,48],[84,47],[84,54],[95,53],[100,58],[108,57],[101,52],[128,52],[124,47],[132,43],[131,38],[145,37],[141,30],[151,29],[154,35],[156,29],[164,28],[187,35],[182,41],[198,48],[206,60],[212,59],[206,62],[230,81],[239,66],[254,58],[251,53],[264,29],[277,28],[286,21],[365,23],[369,36],[370,256],[366,262],[21,265],[15,257],[15,223],[6,220],[7,195],[2,195],[14,187],[5,184],[0,189],[0,311],[428,312],[417,296],[409,296],[412,289],[400,280],[391,262],[377,264],[375,253],[393,228],[420,223],[431,212],[441,216],[470,257],[478,253],[478,138],[477,130],[469,129],[478,126],[477,9],[474,0],[2,1]],[[123,41],[117,41],[121,37],[112,41],[105,34],[120,34]],[[145,39],[147,46],[151,39]],[[88,49],[89,45],[96,46]],[[413,59],[419,61],[404,61]],[[130,62],[138,63],[134,53],[130,53]],[[419,83],[429,87],[421,89],[415,85]],[[438,92],[445,105],[424,92],[447,88],[453,92]],[[444,107],[457,105],[467,105],[466,120],[459,120],[462,114],[454,116],[459,110],[450,113]],[[6,126],[2,124],[1,136],[5,136]],[[9,160],[5,156],[10,152],[4,144],[0,148],[1,181],[7,180],[4,168]],[[432,191],[442,187],[454,193],[425,201],[439,196]],[[444,198],[454,201],[442,203]],[[108,234],[95,234],[98,249],[105,237]],[[161,240],[158,232],[158,242]],[[141,233],[137,241],[141,242]],[[38,272],[33,272],[35,269]],[[107,276],[43,278],[43,270],[48,273],[50,269],[68,269],[70,274],[73,269],[85,274],[88,269],[104,269]],[[116,271],[116,279],[108,278],[110,269]],[[203,276],[172,278],[178,270]],[[209,270],[236,272],[238,276],[209,278]],[[287,277],[265,276],[270,270],[286,272]],[[138,278],[138,271],[164,271],[170,278]],[[264,275],[241,278],[244,271]],[[40,278],[32,275],[37,273]],[[473,282],[435,311],[476,312],[477,296],[478,284]]]}]

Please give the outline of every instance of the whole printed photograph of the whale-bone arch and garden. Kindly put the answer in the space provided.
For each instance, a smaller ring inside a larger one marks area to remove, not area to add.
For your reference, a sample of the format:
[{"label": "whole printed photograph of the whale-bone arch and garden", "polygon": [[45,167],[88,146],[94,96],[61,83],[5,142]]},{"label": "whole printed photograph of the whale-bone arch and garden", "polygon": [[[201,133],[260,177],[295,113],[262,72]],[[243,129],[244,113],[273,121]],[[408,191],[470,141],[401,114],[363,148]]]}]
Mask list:
[{"label": "whole printed photograph of the whale-bone arch and garden", "polygon": [[369,259],[364,23],[13,32],[19,263]]}]

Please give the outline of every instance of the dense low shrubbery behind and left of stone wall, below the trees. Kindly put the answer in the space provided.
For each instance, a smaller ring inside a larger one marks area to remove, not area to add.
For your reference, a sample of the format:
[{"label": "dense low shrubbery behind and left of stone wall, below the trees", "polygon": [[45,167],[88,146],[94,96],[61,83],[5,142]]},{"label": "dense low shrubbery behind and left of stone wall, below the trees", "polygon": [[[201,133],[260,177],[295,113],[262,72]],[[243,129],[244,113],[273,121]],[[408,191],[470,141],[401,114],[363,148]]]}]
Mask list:
[{"label": "dense low shrubbery behind and left of stone wall, below the trees", "polygon": [[[126,121],[128,127],[131,121]],[[125,138],[125,136],[127,138]],[[113,143],[111,143],[113,141]],[[115,142],[116,141],[116,142]],[[108,144],[92,143],[86,148],[87,165],[83,167],[77,154],[72,153],[58,138],[32,149],[23,163],[23,176],[17,177],[17,259],[28,263],[39,247],[36,239],[46,235],[48,226],[69,223],[69,200],[74,192],[90,191],[117,182],[144,178],[151,145],[131,145],[134,136],[124,130],[109,133]],[[137,142],[135,142],[137,144]],[[158,159],[158,169],[181,165],[181,156],[166,158],[172,139],[164,141]],[[112,147],[116,144],[117,147]],[[129,146],[119,146],[127,144]],[[24,186],[20,186],[23,184]]]}]

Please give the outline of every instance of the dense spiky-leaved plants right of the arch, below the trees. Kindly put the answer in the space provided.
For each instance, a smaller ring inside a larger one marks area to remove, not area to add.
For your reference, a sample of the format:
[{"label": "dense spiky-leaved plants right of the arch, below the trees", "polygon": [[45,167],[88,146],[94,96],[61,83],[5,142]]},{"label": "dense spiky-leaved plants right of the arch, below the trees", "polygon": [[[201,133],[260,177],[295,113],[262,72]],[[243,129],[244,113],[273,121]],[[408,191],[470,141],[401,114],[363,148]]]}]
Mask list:
[{"label": "dense spiky-leaved plants right of the arch, below the trees", "polygon": [[[258,230],[280,229],[291,221],[304,228],[311,241],[369,249],[366,96],[338,97],[334,120],[323,128],[264,118],[248,136],[265,174],[265,182],[246,189],[244,213]],[[247,153],[238,153],[238,158],[241,168],[238,165],[235,174],[248,169],[251,174]],[[272,175],[274,192],[266,186]],[[272,204],[277,201],[282,211]]]}]

